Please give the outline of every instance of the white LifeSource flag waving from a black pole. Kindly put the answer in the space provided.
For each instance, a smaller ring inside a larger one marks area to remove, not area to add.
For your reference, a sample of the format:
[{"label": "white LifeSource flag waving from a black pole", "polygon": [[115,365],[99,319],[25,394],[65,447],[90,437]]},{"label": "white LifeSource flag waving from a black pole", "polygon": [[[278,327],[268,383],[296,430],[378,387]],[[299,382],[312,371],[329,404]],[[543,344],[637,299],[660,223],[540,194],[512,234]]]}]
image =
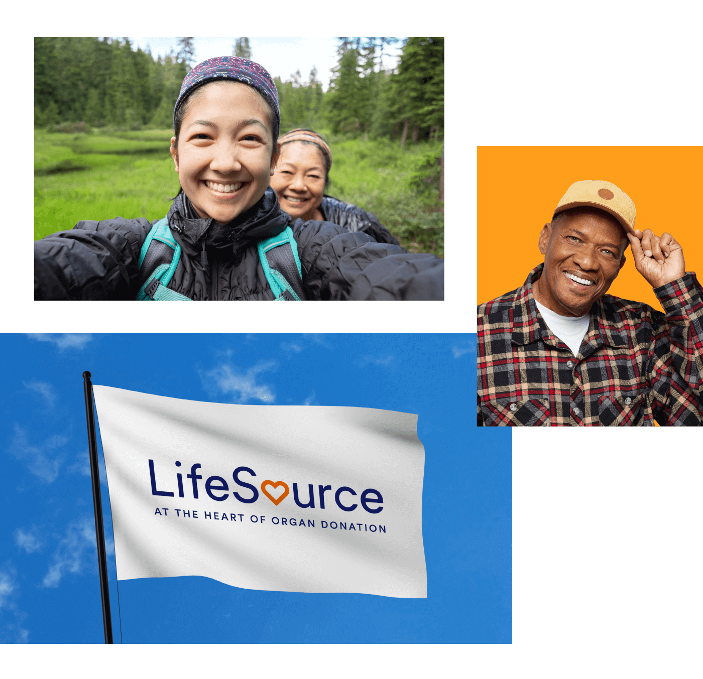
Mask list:
[{"label": "white LifeSource flag waving from a black pole", "polygon": [[418,415],[93,394],[118,580],[427,597]]}]

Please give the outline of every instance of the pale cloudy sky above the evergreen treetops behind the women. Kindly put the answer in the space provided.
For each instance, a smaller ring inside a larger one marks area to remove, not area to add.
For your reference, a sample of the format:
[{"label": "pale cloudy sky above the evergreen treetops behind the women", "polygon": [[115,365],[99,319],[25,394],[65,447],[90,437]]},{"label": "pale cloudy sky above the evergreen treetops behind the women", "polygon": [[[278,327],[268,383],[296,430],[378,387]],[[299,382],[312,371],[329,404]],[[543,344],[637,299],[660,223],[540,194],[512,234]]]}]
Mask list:
[{"label": "pale cloudy sky above the evergreen treetops behind the women", "polygon": [[[236,37],[233,38],[193,38],[195,45],[195,63],[200,63],[216,56],[230,56]],[[401,38],[402,40],[402,38]],[[147,45],[151,47],[154,58],[157,55],[165,56],[169,50],[178,52],[178,38],[129,38],[134,49],[141,47],[146,51]],[[318,79],[322,82],[323,91],[327,91],[330,84],[330,69],[337,64],[337,38],[251,38],[249,44],[252,49],[252,60],[260,63],[272,77],[280,76],[283,81],[290,79],[290,75],[300,70],[303,81],[313,65],[317,68]],[[386,49],[389,54],[386,56]],[[395,46],[383,49],[383,65],[386,69],[394,68],[398,64],[401,51],[401,42]]]}]

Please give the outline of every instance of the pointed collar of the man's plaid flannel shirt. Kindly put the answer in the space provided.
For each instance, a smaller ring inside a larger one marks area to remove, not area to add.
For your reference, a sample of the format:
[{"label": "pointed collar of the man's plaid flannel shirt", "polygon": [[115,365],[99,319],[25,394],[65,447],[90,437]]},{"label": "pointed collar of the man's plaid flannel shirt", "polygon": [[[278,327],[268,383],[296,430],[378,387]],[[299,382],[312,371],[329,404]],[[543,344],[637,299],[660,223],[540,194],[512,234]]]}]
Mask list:
[{"label": "pointed collar of the man's plaid flannel shirt", "polygon": [[[543,269],[544,262],[532,269],[524,285],[518,288],[515,295],[515,302],[512,304],[512,342],[515,344],[531,344],[541,337],[545,340],[551,337],[532,294],[532,282],[541,275]],[[603,302],[604,297],[605,303]],[[610,309],[610,304],[607,303],[608,299],[612,299],[612,296],[604,295],[593,302],[590,312],[591,322],[583,340],[584,342],[593,340],[597,346],[602,344],[609,347],[626,346],[627,332],[621,329],[621,324],[618,324],[617,315]]]}]

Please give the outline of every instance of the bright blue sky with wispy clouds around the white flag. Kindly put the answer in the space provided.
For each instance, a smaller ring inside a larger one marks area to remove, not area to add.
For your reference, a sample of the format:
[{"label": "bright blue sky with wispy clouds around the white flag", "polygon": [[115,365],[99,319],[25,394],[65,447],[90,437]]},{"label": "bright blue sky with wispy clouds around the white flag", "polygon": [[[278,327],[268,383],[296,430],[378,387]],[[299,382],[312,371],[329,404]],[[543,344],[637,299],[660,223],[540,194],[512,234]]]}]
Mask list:
[{"label": "bright blue sky with wispy clouds around the white flag", "polygon": [[510,432],[475,428],[475,334],[1,341],[0,641],[103,642],[82,380],[90,370],[95,384],[179,399],[418,413],[425,446],[426,600],[245,590],[193,576],[122,581],[118,604],[103,480],[115,642],[512,642]]}]

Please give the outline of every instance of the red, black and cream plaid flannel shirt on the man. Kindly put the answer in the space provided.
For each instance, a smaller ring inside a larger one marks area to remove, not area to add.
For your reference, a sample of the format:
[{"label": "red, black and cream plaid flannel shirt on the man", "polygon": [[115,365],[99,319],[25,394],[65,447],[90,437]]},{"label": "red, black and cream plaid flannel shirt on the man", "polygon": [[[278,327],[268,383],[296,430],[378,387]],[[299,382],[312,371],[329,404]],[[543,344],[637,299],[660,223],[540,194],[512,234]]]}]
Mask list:
[{"label": "red, black and cream plaid flannel shirt on the man", "polygon": [[603,295],[579,354],[522,287],[476,307],[479,426],[703,425],[703,288],[692,271],[654,288],[666,313]]}]

